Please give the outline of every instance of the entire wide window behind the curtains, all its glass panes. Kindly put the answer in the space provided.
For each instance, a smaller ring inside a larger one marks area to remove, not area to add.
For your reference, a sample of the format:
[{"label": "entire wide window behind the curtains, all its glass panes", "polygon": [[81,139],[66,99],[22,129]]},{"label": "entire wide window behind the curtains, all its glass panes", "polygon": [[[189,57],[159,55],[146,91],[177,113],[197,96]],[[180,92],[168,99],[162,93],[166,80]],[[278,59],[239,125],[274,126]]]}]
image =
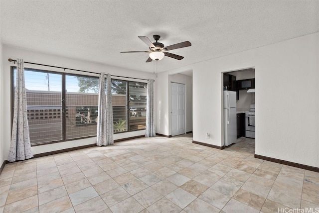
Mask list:
[{"label": "entire wide window behind the curtains, all its glass panes", "polygon": [[[24,76],[31,145],[96,136],[98,77],[28,68]],[[146,93],[146,83],[112,79],[114,133],[145,129]]]}]

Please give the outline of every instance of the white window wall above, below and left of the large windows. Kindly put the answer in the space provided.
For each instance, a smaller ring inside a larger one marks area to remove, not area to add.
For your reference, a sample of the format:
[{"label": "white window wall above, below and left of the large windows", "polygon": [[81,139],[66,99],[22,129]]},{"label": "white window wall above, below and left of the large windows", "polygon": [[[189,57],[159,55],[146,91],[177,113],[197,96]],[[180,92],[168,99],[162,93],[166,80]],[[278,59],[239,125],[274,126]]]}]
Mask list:
[{"label": "white window wall above, below and left of the large windows", "polygon": [[[4,159],[6,159],[8,156],[8,150],[10,146],[10,125],[8,125],[11,120],[10,92],[9,92],[10,91],[10,66],[14,65],[12,62],[11,63],[8,62],[7,60],[8,58],[12,58],[12,59],[22,58],[24,61],[27,61],[27,62],[47,64],[47,65],[58,66],[58,67],[66,67],[66,68],[77,69],[77,70],[85,70],[85,71],[96,72],[96,73],[105,72],[105,73],[110,73],[111,75],[117,75],[117,76],[126,76],[126,77],[142,78],[142,79],[154,79],[154,75],[152,73],[145,73],[145,72],[139,72],[134,70],[122,69],[118,67],[107,66],[107,65],[103,65],[102,64],[103,62],[101,62],[101,64],[91,63],[87,61],[64,58],[64,57],[60,57],[56,55],[49,55],[45,53],[23,50],[23,49],[15,48],[12,46],[3,45],[3,55],[2,57],[0,57],[0,59],[3,60],[3,70],[1,69],[1,72],[0,72],[0,75],[1,75],[0,79],[3,80],[3,85],[1,85],[2,83],[0,82],[0,90],[6,91],[6,92],[3,94],[3,96],[0,92],[0,100],[1,100],[1,103],[3,103],[3,110],[0,110],[1,112],[3,112],[1,122],[5,122],[3,124],[0,124],[0,125],[3,125],[2,128],[0,128],[1,129],[0,131],[3,131],[2,132],[3,134],[1,134],[1,136],[3,135],[3,138],[0,137],[0,145],[3,146],[3,156],[1,157]],[[26,64],[26,63],[24,63],[24,67],[63,72],[63,69],[43,67],[43,66]],[[66,70],[65,72],[85,74],[83,72],[81,73],[81,72],[69,71],[69,70]],[[156,84],[157,83],[155,82],[155,86]],[[2,106],[0,105],[0,109],[1,107]],[[144,134],[145,134],[145,130],[126,132],[126,133],[115,134],[114,139],[116,140],[116,139],[139,136]],[[32,151],[33,151],[33,154],[39,154],[39,153],[56,151],[56,150],[83,146],[88,144],[94,144],[94,143],[96,143],[96,138],[92,137],[92,138],[86,138],[86,139],[80,139],[80,140],[74,140],[74,141],[47,144],[42,146],[34,146],[32,147]]]}]

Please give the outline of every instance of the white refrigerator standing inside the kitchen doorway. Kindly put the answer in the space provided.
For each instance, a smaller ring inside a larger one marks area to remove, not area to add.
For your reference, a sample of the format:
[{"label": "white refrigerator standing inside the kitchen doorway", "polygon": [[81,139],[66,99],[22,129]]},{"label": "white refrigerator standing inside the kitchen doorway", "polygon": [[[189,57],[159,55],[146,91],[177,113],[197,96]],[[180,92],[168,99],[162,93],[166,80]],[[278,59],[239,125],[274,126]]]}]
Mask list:
[{"label": "white refrigerator standing inside the kitchen doorway", "polygon": [[224,91],[224,146],[237,140],[236,92]]}]

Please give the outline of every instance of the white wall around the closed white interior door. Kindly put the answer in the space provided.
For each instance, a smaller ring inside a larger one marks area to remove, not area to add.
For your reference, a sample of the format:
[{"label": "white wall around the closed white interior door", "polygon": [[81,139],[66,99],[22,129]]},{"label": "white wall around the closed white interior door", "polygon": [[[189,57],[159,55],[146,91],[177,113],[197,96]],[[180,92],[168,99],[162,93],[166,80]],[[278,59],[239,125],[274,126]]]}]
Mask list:
[{"label": "white wall around the closed white interior door", "polygon": [[[170,97],[170,82],[184,84],[186,89],[186,132],[192,131],[192,77],[174,74],[168,76],[168,97]],[[168,111],[171,111],[171,99],[168,99]],[[171,114],[169,113],[168,126],[171,126]],[[171,135],[171,127],[168,129],[169,135]]]}]

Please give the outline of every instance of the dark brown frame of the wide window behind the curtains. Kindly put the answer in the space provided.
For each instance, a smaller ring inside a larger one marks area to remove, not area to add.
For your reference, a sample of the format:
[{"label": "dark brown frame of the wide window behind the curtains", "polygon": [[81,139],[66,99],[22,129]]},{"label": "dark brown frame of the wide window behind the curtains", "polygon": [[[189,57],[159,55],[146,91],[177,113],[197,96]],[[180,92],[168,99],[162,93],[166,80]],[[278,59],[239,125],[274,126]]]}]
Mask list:
[{"label": "dark brown frame of the wide window behind the curtains", "polygon": [[[11,132],[12,132],[12,122],[13,122],[13,112],[14,112],[14,70],[16,69],[16,66],[11,66],[10,67],[10,103],[11,103]],[[66,142],[66,141],[74,141],[74,140],[79,140],[79,139],[85,139],[85,138],[91,138],[91,137],[96,137],[96,135],[91,135],[91,136],[84,136],[84,137],[78,137],[78,138],[71,138],[71,139],[66,139],[66,76],[79,76],[79,77],[92,77],[92,78],[99,78],[97,76],[91,76],[91,75],[81,75],[81,74],[75,74],[75,73],[66,73],[66,72],[58,72],[58,71],[50,71],[50,70],[44,70],[44,69],[34,69],[34,68],[24,68],[25,70],[28,71],[33,71],[33,72],[41,72],[41,73],[52,73],[52,74],[59,74],[61,75],[61,84],[62,84],[62,92],[61,92],[61,106],[62,106],[62,139],[61,140],[55,140],[55,141],[50,141],[50,142],[42,142],[42,143],[36,143],[36,144],[31,144],[31,146],[41,146],[41,145],[46,145],[46,144],[53,144],[53,143],[60,143],[60,142]],[[99,75],[97,73],[97,75]],[[105,77],[106,78],[106,77]],[[129,81],[129,80],[122,80],[122,79],[117,79],[117,78],[112,78],[114,80],[118,81],[124,81],[127,83],[127,94],[126,94],[126,110],[127,110],[127,130],[126,131],[121,131],[121,132],[113,132],[113,134],[120,134],[120,133],[125,133],[125,132],[134,132],[134,131],[141,131],[145,130],[143,129],[130,129],[130,82],[137,82],[137,83],[145,83],[145,82],[139,82],[139,81]],[[113,107],[113,105],[112,105]]]}]

